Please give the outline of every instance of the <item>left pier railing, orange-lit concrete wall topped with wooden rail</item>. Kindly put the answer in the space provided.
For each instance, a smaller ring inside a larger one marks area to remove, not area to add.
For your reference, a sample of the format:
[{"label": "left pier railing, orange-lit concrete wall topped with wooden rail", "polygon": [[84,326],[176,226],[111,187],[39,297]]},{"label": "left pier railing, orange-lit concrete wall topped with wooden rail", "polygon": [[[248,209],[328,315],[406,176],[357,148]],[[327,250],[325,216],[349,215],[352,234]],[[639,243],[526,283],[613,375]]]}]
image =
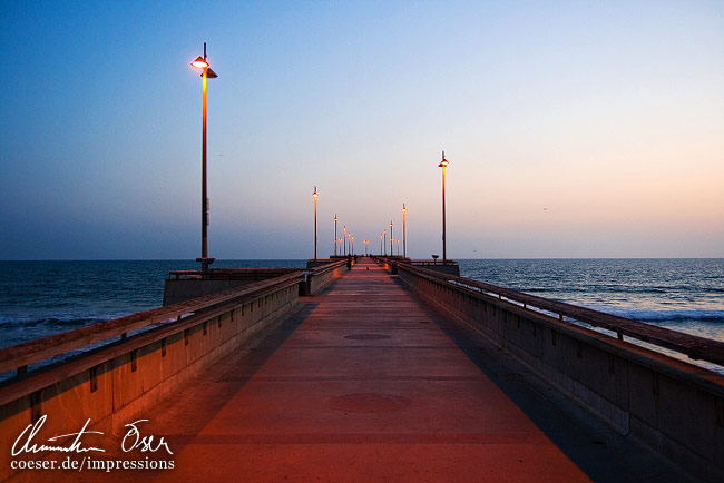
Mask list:
[{"label": "left pier railing, orange-lit concrete wall topped with wooden rail", "polygon": [[[48,435],[79,428],[88,418],[95,431],[118,431],[287,314],[299,300],[302,279],[296,272],[0,349],[0,372],[19,368],[17,377],[0,385],[0,480],[11,475],[13,440],[42,415],[48,416],[42,426]],[[27,369],[118,336],[67,361]]]}]

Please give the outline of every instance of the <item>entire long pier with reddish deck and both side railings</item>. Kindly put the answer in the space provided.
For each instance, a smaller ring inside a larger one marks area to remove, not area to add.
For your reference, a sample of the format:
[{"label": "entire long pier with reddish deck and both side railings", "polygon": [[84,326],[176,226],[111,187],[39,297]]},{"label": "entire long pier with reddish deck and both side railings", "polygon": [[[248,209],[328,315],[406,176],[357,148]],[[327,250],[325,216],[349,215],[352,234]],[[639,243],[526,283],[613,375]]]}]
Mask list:
[{"label": "entire long pier with reddish deck and both side railings", "polygon": [[[626,338],[714,362],[721,344],[625,319],[620,334],[607,336],[566,317],[610,328],[613,316],[512,290],[492,294],[498,287],[408,260],[344,265],[268,277],[216,273],[242,282],[0,351],[0,368],[18,368],[0,387],[2,434],[12,435],[3,437],[2,476],[28,477],[7,471],[9,444],[43,414],[43,435],[66,434],[88,417],[98,431],[123,435],[129,421],[148,420],[144,432],[168,441],[174,469],[117,471],[112,481],[198,481],[199,469],[209,481],[722,475],[724,377]],[[190,273],[170,278],[184,276],[200,282]],[[548,312],[531,309],[536,304]],[[28,368],[108,338],[46,369]]]}]

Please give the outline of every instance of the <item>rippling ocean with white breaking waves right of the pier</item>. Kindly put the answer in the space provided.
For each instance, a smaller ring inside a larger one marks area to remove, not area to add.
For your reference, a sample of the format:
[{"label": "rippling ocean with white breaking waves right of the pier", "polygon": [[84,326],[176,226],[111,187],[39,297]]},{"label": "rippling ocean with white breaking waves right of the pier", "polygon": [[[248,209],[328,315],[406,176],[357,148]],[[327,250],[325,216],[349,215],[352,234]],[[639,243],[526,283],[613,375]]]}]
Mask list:
[{"label": "rippling ocean with white breaking waves right of the pier", "polygon": [[467,259],[460,275],[724,341],[724,258]]}]

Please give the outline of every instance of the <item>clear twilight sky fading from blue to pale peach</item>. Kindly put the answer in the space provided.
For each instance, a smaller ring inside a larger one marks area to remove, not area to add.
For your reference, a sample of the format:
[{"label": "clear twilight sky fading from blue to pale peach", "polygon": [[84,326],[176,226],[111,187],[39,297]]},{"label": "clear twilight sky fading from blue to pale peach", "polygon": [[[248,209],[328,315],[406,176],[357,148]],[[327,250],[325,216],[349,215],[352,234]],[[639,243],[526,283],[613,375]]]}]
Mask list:
[{"label": "clear twilight sky fading from blue to pale peach", "polygon": [[[722,1],[10,1],[0,259],[724,257]],[[389,236],[389,234],[388,234]]]}]

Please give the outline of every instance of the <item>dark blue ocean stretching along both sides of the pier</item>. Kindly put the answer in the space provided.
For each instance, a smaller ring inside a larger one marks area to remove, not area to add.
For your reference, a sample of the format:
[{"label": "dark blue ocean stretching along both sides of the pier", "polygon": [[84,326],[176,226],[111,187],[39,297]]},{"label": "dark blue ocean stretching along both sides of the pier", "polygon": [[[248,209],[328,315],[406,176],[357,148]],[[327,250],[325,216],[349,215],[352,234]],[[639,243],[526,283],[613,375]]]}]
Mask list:
[{"label": "dark blue ocean stretching along both sides of the pier", "polygon": [[[306,260],[217,260],[302,268]],[[724,341],[724,259],[462,259],[464,277]],[[160,306],[194,260],[0,262],[0,347]]]}]

